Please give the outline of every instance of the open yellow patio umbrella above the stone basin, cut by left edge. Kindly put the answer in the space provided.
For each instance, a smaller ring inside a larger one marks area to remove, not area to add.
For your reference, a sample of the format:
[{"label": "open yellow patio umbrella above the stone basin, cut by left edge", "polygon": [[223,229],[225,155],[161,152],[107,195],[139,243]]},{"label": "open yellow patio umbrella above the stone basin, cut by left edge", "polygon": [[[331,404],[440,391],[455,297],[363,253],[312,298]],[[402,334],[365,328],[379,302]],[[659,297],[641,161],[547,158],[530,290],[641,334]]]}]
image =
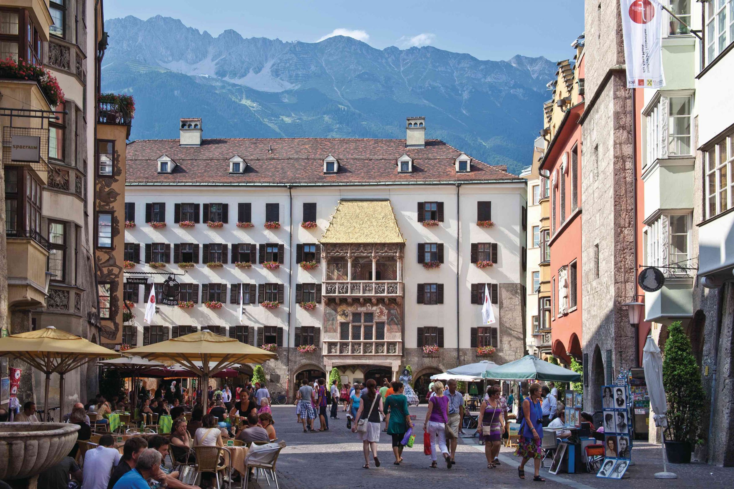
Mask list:
[{"label": "open yellow patio umbrella above the stone basin, cut by left edge", "polygon": [[46,374],[43,409],[48,413],[51,374],[59,374],[59,407],[64,411],[64,375],[94,359],[112,358],[120,356],[120,353],[54,326],[46,326],[37,331],[0,338],[0,356],[25,361]]}]

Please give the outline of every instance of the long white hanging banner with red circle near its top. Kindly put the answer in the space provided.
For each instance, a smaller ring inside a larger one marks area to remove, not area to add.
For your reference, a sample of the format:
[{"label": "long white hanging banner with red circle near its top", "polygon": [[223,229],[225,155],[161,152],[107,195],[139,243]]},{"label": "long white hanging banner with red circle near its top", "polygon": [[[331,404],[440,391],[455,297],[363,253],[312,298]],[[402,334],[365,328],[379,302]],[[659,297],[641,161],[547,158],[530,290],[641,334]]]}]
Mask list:
[{"label": "long white hanging banner with red circle near its top", "polygon": [[665,87],[658,0],[619,0],[625,38],[628,88]]}]

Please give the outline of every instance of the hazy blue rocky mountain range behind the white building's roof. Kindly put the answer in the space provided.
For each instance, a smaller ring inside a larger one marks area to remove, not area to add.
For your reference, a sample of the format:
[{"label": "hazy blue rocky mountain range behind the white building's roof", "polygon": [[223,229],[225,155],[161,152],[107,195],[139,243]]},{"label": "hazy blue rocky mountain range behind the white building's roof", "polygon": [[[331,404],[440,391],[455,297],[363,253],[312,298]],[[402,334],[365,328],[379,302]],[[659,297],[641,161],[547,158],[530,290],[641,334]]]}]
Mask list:
[{"label": "hazy blue rocky mountain range behind the white building's roof", "polygon": [[131,139],[178,137],[180,117],[202,117],[205,138],[404,139],[405,117],[425,116],[426,138],[519,173],[556,73],[543,57],[483,61],[344,36],[213,37],[160,15],[109,19],[105,30],[102,89],[134,96]]}]

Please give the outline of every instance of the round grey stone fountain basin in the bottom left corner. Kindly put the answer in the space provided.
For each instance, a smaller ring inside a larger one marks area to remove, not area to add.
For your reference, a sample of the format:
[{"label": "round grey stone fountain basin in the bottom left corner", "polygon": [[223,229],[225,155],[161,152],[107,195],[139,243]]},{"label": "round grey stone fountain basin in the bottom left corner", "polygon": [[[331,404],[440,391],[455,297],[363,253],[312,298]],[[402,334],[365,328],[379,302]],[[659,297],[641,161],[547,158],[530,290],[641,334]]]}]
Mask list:
[{"label": "round grey stone fountain basin in the bottom left corner", "polygon": [[55,466],[76,444],[79,424],[0,423],[0,480],[25,479]]}]

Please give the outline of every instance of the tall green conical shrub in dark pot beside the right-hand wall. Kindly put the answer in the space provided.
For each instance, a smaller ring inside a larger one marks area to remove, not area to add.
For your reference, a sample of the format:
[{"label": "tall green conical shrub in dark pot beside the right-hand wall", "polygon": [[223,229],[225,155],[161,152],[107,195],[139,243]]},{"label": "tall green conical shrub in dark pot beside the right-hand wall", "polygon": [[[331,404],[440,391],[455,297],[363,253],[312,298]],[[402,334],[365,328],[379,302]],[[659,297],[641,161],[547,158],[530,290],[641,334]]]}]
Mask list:
[{"label": "tall green conical shrub in dark pot beside the right-hand wall", "polygon": [[701,431],[701,400],[706,398],[700,368],[680,321],[668,327],[663,385],[668,402],[665,452],[670,463],[690,463]]}]

